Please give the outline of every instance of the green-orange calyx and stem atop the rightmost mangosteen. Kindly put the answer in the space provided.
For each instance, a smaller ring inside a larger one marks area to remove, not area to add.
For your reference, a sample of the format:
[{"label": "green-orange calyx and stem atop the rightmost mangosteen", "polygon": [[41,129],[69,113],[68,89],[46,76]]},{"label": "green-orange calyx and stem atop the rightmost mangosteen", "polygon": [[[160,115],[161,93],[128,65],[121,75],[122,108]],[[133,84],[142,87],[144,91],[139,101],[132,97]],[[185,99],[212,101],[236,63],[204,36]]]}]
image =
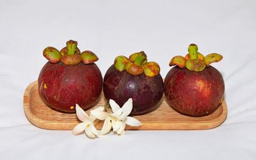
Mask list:
[{"label": "green-orange calyx and stem atop the rightmost mangosteen", "polygon": [[188,51],[189,53],[185,57],[173,57],[169,65],[178,65],[180,68],[186,67],[188,70],[200,72],[204,70],[205,67],[209,67],[211,63],[218,62],[223,58],[217,53],[211,53],[204,57],[200,52],[197,52],[198,47],[195,44],[189,45]]}]

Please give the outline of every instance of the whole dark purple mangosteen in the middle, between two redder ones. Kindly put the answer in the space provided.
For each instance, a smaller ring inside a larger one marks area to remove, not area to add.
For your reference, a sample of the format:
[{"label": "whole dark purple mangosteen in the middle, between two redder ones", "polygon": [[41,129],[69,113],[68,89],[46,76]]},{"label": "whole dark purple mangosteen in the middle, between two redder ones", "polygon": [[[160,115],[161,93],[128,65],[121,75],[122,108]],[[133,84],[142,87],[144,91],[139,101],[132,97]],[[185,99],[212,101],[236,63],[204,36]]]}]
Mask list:
[{"label": "whole dark purple mangosteen in the middle, between two redder ones", "polygon": [[163,78],[156,62],[147,62],[145,52],[136,52],[129,58],[118,56],[104,76],[103,91],[107,100],[119,106],[132,98],[131,115],[140,115],[156,109],[164,92]]}]

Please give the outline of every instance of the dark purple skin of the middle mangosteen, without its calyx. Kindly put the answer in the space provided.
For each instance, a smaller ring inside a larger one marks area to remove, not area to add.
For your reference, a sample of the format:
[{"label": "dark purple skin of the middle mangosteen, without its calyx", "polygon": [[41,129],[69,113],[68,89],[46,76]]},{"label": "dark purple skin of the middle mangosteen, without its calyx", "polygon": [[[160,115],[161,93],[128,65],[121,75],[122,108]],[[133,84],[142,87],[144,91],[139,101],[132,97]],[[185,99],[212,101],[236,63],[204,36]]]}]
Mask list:
[{"label": "dark purple skin of the middle mangosteen, without its calyx", "polygon": [[112,65],[104,76],[103,91],[106,99],[115,100],[120,107],[132,98],[131,115],[140,115],[156,107],[163,96],[164,84],[160,74],[133,76],[126,71],[119,72]]}]

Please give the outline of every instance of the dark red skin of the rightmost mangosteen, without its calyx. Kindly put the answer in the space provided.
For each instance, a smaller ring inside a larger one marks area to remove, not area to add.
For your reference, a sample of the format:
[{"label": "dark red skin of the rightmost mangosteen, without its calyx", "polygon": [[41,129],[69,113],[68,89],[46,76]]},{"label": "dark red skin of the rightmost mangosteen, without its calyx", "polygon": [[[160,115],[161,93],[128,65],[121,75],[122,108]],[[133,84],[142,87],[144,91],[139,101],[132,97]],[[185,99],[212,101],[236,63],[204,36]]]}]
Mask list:
[{"label": "dark red skin of the rightmost mangosteen, without its calyx", "polygon": [[223,77],[209,66],[201,72],[173,67],[164,79],[164,95],[180,113],[204,116],[220,106],[225,91]]}]

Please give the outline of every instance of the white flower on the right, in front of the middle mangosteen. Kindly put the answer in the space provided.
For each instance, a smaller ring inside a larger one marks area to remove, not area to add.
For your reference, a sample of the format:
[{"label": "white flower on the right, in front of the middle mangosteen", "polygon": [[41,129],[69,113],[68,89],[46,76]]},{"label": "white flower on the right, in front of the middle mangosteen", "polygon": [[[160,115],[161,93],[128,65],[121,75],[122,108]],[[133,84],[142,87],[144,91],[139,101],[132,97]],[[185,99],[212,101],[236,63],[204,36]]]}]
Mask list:
[{"label": "white flower on the right, in front of the middle mangosteen", "polygon": [[109,104],[113,111],[109,113],[99,110],[91,111],[91,114],[99,120],[105,120],[100,134],[106,134],[113,127],[113,131],[117,134],[125,134],[125,125],[140,126],[141,122],[136,118],[128,116],[132,111],[132,99],[128,99],[124,106],[120,108],[118,104],[112,99],[109,100]]}]

